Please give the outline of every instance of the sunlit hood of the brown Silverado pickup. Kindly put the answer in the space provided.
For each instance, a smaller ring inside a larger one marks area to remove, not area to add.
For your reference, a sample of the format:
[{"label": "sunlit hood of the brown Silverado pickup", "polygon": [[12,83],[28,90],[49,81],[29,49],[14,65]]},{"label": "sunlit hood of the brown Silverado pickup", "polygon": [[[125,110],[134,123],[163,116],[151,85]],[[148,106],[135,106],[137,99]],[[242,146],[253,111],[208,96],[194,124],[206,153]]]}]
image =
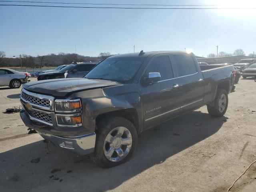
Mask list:
[{"label": "sunlit hood of the brown Silverado pickup", "polygon": [[62,98],[73,92],[120,85],[117,82],[99,79],[67,78],[29,82],[23,88],[35,93]]}]

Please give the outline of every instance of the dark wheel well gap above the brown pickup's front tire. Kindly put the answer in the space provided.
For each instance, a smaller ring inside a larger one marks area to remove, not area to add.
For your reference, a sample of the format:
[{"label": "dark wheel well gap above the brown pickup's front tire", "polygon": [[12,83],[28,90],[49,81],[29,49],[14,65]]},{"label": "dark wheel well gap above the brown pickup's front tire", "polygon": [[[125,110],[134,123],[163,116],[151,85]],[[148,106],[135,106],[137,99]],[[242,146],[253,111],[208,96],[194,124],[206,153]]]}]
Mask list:
[{"label": "dark wheel well gap above the brown pickup's front tire", "polygon": [[96,124],[103,118],[107,118],[107,117],[109,118],[111,116],[118,116],[118,117],[126,118],[127,120],[132,122],[132,124],[136,128],[137,132],[139,131],[138,114],[137,114],[136,109],[134,109],[134,108],[122,109],[122,110],[117,110],[117,111],[100,114],[96,117]]}]

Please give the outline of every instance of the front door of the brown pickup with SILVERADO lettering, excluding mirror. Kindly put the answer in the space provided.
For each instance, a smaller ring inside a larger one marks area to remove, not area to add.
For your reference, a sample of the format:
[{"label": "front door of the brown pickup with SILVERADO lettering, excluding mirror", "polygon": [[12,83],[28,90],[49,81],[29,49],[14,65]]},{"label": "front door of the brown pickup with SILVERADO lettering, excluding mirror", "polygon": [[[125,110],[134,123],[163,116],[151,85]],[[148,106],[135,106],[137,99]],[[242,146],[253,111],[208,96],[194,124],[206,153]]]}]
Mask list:
[{"label": "front door of the brown pickup with SILVERADO lettering, excluding mirror", "polygon": [[161,80],[153,84],[141,81],[145,128],[173,117],[180,108],[178,79],[174,77],[168,54],[154,56],[144,76],[149,72],[159,72]]}]

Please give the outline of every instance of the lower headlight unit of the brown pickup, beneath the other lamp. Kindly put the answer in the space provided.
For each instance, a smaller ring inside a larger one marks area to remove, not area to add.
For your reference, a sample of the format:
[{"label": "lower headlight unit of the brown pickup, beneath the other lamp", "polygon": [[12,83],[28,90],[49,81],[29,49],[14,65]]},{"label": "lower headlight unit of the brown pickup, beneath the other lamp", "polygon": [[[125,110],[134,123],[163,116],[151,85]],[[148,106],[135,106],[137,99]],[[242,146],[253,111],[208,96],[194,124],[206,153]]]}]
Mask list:
[{"label": "lower headlight unit of the brown pickup, beneath the other lamp", "polygon": [[56,115],[58,126],[81,126],[82,116],[81,114],[74,115]]}]

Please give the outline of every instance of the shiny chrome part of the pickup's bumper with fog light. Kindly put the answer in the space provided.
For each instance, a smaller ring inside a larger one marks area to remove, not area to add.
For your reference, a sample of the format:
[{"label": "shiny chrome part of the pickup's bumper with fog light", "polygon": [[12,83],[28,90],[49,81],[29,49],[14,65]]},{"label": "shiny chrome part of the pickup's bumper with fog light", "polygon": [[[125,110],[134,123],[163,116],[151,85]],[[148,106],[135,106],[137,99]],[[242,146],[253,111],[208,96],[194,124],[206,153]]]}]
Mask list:
[{"label": "shiny chrome part of the pickup's bumper with fog light", "polygon": [[86,155],[94,152],[96,134],[88,134],[78,137],[59,137],[43,132],[38,132],[44,139],[52,143],[57,148],[64,148],[79,155]]}]

